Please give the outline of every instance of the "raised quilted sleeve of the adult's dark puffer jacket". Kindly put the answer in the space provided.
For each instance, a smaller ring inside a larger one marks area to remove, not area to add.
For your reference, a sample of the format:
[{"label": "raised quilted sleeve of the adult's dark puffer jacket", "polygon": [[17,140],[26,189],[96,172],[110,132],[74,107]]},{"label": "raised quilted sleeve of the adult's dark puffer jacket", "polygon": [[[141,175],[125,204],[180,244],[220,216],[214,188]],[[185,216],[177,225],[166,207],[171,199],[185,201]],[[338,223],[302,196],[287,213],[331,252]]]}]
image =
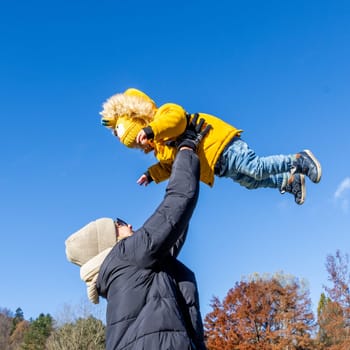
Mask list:
[{"label": "raised quilted sleeve of the adult's dark puffer jacket", "polygon": [[140,267],[151,267],[187,229],[199,194],[199,159],[190,150],[178,152],[163,201],[133,236],[121,241],[125,258]]}]

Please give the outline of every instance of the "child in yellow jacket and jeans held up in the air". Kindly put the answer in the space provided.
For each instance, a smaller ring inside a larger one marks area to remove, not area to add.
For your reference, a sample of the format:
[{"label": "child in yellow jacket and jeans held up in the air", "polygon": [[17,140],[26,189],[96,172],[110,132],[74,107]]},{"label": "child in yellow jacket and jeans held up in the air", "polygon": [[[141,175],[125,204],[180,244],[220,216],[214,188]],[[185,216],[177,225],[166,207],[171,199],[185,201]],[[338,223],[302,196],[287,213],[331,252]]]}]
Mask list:
[{"label": "child in yellow jacket and jeans held up in the air", "polygon": [[[138,184],[147,186],[169,178],[176,154],[171,141],[185,131],[193,115],[174,103],[158,108],[150,97],[133,88],[110,97],[100,114],[102,125],[112,129],[125,146],[153,151],[158,159]],[[270,187],[291,193],[301,205],[306,194],[305,175],[314,183],[320,181],[321,165],[311,151],[259,157],[241,139],[242,130],[209,114],[199,113],[199,117],[212,126],[198,150],[201,181],[209,186],[214,184],[214,175],[228,177],[248,189]]]}]

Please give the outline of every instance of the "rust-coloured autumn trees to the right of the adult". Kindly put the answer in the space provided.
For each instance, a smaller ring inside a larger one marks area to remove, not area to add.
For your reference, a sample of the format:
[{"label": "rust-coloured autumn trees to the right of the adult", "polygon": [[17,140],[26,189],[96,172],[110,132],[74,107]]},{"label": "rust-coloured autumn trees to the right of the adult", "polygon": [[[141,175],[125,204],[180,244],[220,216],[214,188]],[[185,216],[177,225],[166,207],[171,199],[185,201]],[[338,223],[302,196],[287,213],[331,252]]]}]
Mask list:
[{"label": "rust-coloured autumn trees to the right of the adult", "polygon": [[253,275],[213,299],[204,320],[208,350],[349,350],[349,257],[337,251],[325,265],[330,286],[317,319],[303,281]]}]

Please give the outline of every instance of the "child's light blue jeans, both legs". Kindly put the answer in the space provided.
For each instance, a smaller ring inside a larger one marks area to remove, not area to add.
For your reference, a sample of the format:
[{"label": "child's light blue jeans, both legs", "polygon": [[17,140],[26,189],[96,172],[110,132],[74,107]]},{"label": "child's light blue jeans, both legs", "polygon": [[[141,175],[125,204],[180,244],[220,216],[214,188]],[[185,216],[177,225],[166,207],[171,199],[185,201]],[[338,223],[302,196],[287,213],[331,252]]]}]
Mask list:
[{"label": "child's light blue jeans, both legs", "polygon": [[281,190],[287,183],[295,155],[259,157],[241,138],[221,154],[216,174],[229,177],[248,189],[271,187]]}]

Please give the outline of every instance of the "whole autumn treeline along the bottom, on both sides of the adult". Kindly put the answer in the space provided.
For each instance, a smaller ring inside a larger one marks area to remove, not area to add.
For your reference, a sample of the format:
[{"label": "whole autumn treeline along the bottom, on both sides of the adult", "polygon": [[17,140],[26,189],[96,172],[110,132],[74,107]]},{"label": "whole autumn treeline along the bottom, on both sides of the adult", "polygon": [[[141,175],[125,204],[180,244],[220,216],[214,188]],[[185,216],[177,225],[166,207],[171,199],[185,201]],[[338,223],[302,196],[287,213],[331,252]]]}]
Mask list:
[{"label": "whole autumn treeline along the bottom, on both sides of the adult", "polygon": [[[305,281],[284,273],[243,278],[223,300],[214,297],[204,318],[208,350],[350,349],[349,257],[326,260],[329,286],[312,311]],[[67,315],[67,310],[63,314]],[[99,350],[105,325],[86,313],[73,320],[40,314],[25,320],[21,308],[0,309],[1,350]]]}]

